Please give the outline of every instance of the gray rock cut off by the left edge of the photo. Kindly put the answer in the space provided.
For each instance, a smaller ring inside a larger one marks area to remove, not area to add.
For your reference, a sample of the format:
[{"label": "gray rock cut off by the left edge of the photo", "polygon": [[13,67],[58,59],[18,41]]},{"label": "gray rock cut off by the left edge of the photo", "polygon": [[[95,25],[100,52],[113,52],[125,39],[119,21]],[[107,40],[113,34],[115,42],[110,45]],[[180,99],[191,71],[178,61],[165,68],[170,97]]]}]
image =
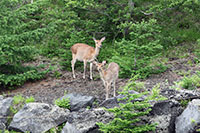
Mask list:
[{"label": "gray rock cut off by the left edge of the photo", "polygon": [[[1,97],[0,97],[1,98]],[[10,106],[13,98],[6,98],[0,100],[0,129],[5,129],[7,124],[7,117],[10,113]]]}]

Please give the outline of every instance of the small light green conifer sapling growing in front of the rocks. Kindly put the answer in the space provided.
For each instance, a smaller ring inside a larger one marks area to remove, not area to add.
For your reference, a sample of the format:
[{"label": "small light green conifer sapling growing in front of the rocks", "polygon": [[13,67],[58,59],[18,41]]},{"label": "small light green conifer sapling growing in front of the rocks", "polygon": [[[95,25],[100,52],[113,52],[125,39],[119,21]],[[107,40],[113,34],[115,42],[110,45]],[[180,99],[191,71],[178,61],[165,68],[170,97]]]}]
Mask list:
[{"label": "small light green conifer sapling growing in front of the rocks", "polygon": [[143,95],[148,95],[148,92],[143,92],[139,94],[130,94],[129,91],[133,90],[133,83],[130,82],[125,86],[124,90],[120,92],[125,97],[120,99],[126,102],[125,104],[120,104],[120,107],[115,107],[112,109],[107,109],[107,111],[114,113],[114,119],[108,124],[98,123],[100,130],[103,132],[126,132],[126,133],[143,133],[148,131],[155,131],[156,124],[141,122],[141,118],[146,116],[151,111],[151,105],[149,100],[161,100],[163,99],[159,95],[159,86],[155,87],[152,94],[146,97],[143,101],[133,100],[142,97]]}]

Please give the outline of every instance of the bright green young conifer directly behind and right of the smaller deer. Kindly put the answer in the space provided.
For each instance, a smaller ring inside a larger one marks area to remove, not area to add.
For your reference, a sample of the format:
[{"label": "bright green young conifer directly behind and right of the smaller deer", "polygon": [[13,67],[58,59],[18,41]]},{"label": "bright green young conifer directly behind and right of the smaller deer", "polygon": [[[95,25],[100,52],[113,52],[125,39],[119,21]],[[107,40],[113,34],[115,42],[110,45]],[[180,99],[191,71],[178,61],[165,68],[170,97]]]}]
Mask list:
[{"label": "bright green young conifer directly behind and right of the smaller deer", "polygon": [[129,39],[117,42],[118,46],[111,61],[117,62],[122,68],[121,74],[130,76],[130,73],[140,74],[143,77],[152,73],[150,61],[162,50],[160,42],[160,27],[155,19],[137,23],[122,24],[131,29]]}]

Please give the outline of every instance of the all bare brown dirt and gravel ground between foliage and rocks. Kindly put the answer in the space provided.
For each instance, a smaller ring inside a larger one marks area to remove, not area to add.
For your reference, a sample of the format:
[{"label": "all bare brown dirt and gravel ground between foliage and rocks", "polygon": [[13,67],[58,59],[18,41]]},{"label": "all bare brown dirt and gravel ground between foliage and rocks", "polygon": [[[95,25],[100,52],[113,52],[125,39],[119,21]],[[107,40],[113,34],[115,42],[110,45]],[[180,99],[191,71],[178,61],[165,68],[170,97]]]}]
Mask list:
[{"label": "all bare brown dirt and gravel ground between foliage and rocks", "polygon": [[[151,90],[156,84],[160,85],[160,89],[171,88],[175,82],[181,80],[184,75],[192,75],[195,71],[200,70],[200,65],[193,62],[193,56],[187,58],[172,58],[167,62],[168,69],[160,74],[151,75],[147,79],[138,80],[137,82],[144,83],[145,89]],[[39,65],[41,63],[50,63],[50,60],[36,60],[32,65]],[[27,64],[26,64],[27,65]],[[1,92],[6,96],[22,95],[25,97],[33,96],[36,102],[54,103],[54,101],[67,93],[79,93],[83,95],[94,96],[97,102],[102,102],[105,99],[105,89],[103,82],[99,78],[99,73],[94,67],[93,77],[94,80],[89,79],[89,69],[87,69],[86,79],[82,78],[82,71],[75,70],[76,79],[72,78],[72,72],[61,71],[61,76],[47,76],[47,78],[27,82],[23,86],[13,90],[4,90]],[[129,79],[118,79],[116,82],[117,91],[120,91],[126,85]],[[110,97],[112,96],[111,89]]]}]

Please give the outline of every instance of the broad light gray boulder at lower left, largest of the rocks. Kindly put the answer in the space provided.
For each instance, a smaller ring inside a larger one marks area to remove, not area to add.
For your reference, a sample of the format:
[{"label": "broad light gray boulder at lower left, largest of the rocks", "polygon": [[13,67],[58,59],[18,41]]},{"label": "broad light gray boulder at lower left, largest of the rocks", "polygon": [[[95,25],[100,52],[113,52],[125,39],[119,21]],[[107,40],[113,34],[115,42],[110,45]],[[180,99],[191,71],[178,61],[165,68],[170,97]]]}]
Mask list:
[{"label": "broad light gray boulder at lower left, largest of the rocks", "polygon": [[45,103],[28,103],[13,117],[9,129],[42,133],[67,121],[69,110]]}]

